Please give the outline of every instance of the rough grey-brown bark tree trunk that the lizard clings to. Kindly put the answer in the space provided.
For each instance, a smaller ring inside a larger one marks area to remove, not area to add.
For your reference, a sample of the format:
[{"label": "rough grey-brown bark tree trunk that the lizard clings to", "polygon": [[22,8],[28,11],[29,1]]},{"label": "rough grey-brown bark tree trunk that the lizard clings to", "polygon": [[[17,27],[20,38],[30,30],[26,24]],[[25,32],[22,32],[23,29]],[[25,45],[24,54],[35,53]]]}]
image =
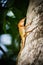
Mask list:
[{"label": "rough grey-brown bark tree trunk that the lizard clings to", "polygon": [[30,0],[27,11],[25,46],[18,55],[17,65],[43,65],[43,0]]}]

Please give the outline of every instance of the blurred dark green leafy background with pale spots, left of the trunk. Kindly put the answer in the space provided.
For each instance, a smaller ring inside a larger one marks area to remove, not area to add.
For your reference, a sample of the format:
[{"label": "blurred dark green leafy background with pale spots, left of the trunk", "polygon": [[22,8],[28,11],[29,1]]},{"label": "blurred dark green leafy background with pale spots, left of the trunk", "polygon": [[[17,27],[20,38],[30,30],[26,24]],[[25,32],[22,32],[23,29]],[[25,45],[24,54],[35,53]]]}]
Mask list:
[{"label": "blurred dark green leafy background with pale spots, left of the trunk", "polygon": [[0,0],[0,64],[16,65],[21,41],[17,25],[28,4],[29,0]]}]

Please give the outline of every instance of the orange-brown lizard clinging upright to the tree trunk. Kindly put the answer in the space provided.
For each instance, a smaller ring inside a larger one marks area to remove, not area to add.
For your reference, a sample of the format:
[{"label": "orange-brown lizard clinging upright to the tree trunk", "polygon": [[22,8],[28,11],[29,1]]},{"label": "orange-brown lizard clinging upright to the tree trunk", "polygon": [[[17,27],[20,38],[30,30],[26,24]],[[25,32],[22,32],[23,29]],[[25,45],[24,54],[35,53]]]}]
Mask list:
[{"label": "orange-brown lizard clinging upright to the tree trunk", "polygon": [[25,19],[26,19],[26,17],[21,19],[18,23],[19,33],[20,33],[20,36],[21,36],[21,50],[24,48],[25,38],[26,38],[27,33],[31,32],[31,31],[28,31],[27,33],[25,32],[25,28],[27,26],[31,25],[31,23],[29,23],[28,25],[24,26]]}]

